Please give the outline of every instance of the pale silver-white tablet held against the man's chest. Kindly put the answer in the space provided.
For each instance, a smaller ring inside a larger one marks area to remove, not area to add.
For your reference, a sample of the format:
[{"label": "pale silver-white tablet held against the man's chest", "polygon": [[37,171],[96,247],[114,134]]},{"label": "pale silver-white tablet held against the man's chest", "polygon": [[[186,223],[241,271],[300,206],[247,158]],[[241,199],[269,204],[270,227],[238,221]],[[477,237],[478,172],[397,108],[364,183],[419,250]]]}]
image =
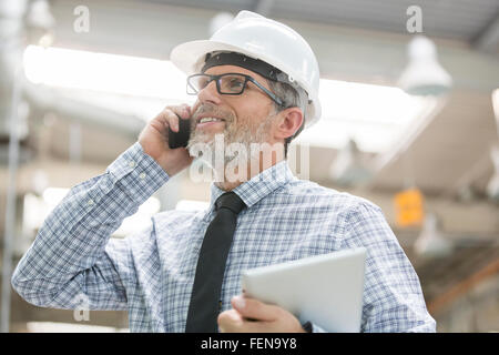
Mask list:
[{"label": "pale silver-white tablet held against the man's chest", "polygon": [[243,293],[276,304],[327,332],[360,331],[366,248],[246,270]]}]

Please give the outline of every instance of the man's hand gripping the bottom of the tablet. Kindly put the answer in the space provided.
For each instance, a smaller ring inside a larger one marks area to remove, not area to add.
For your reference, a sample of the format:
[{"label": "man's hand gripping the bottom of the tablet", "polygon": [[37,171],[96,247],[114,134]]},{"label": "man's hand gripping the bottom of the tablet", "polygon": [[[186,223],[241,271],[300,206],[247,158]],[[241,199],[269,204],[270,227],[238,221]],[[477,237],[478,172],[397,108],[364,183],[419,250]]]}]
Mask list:
[{"label": "man's hand gripping the bottom of the tablet", "polygon": [[289,312],[254,298],[235,296],[233,310],[218,315],[222,333],[305,333]]}]

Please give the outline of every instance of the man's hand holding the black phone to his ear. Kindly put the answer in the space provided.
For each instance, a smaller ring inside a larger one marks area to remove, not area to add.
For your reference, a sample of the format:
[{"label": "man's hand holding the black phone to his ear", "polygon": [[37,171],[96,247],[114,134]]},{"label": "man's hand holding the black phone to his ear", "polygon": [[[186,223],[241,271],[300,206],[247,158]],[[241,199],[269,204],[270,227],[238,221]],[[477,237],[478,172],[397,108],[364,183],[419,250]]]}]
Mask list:
[{"label": "man's hand holding the black phone to his ear", "polygon": [[169,126],[172,131],[179,132],[179,118],[175,113],[182,119],[191,118],[191,109],[187,104],[166,106],[139,135],[139,143],[145,154],[153,158],[170,176],[191,165],[194,160],[185,148],[170,149],[169,146]]}]

